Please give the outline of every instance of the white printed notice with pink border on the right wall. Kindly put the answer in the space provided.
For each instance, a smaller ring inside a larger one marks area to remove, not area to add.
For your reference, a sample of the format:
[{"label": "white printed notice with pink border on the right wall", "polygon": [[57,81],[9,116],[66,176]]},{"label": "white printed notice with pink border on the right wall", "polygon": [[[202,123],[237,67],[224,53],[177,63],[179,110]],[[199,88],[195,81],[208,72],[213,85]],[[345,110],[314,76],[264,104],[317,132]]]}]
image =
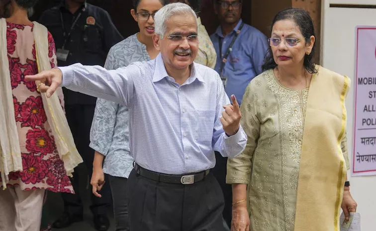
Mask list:
[{"label": "white printed notice with pink border on the right wall", "polygon": [[353,176],[376,175],[376,26],[356,28]]}]

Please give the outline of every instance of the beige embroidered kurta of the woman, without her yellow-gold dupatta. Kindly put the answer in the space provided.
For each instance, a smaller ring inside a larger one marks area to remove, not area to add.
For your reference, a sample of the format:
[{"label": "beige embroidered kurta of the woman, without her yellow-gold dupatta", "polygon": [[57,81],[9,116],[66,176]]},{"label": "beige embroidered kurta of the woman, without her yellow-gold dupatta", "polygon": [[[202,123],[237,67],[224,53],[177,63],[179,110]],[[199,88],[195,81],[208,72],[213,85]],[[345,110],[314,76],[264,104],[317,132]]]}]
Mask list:
[{"label": "beige embroidered kurta of the woman, without her yellow-gold dupatta", "polygon": [[[255,77],[246,89],[241,124],[247,147],[228,160],[226,182],[248,184],[252,231],[294,230],[308,92],[282,86],[272,70]],[[349,168],[346,136],[341,144]]]}]

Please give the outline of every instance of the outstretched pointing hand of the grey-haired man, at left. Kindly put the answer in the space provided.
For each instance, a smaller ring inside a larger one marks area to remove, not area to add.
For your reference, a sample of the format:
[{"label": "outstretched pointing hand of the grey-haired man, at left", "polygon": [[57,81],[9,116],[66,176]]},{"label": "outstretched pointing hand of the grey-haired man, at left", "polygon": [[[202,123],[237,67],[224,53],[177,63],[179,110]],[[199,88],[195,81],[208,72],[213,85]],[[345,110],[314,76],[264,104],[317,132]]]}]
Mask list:
[{"label": "outstretched pointing hand of the grey-haired man, at left", "polygon": [[60,86],[63,79],[63,74],[61,73],[60,69],[54,68],[49,71],[43,71],[34,76],[25,76],[25,78],[28,81],[39,81],[37,85],[39,86],[39,91],[46,92],[46,96],[49,98]]}]

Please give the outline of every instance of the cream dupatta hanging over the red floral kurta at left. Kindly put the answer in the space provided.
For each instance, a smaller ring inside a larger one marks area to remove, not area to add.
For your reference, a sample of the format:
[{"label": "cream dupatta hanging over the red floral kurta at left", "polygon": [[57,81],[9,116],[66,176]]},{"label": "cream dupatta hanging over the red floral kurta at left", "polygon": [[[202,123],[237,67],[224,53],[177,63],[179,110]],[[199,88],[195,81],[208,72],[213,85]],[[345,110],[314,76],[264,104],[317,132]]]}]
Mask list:
[{"label": "cream dupatta hanging over the red floral kurta at left", "polygon": [[[37,22],[33,22],[33,24],[38,72],[50,70],[47,28]],[[2,186],[5,189],[9,172],[22,171],[23,169],[14,119],[13,96],[6,49],[6,21],[4,18],[0,19],[0,45],[0,172]],[[61,88],[58,90],[61,90]],[[67,175],[72,176],[74,168],[79,163],[82,163],[83,160],[76,149],[59,98],[57,94],[53,94],[50,98],[46,97],[46,93],[41,93],[41,96],[47,121],[55,138],[58,154],[64,162]]]}]

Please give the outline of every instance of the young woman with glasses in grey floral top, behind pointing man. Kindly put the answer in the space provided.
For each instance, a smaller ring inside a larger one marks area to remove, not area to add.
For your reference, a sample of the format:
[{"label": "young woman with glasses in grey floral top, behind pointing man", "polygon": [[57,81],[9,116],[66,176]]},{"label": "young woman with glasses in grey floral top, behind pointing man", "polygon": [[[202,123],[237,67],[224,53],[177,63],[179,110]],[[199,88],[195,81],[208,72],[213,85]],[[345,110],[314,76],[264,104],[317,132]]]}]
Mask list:
[{"label": "young woman with glasses in grey floral top, behind pointing man", "polygon": [[[157,57],[159,51],[155,49],[152,39],[154,14],[164,4],[164,0],[133,0],[131,14],[140,31],[110,49],[104,65],[106,69],[114,70]],[[104,173],[108,174],[116,231],[129,231],[128,199],[125,192],[134,159],[129,148],[128,108],[98,98],[90,141],[90,147],[95,150],[91,180],[93,193],[101,196],[97,191],[104,184]]]}]

